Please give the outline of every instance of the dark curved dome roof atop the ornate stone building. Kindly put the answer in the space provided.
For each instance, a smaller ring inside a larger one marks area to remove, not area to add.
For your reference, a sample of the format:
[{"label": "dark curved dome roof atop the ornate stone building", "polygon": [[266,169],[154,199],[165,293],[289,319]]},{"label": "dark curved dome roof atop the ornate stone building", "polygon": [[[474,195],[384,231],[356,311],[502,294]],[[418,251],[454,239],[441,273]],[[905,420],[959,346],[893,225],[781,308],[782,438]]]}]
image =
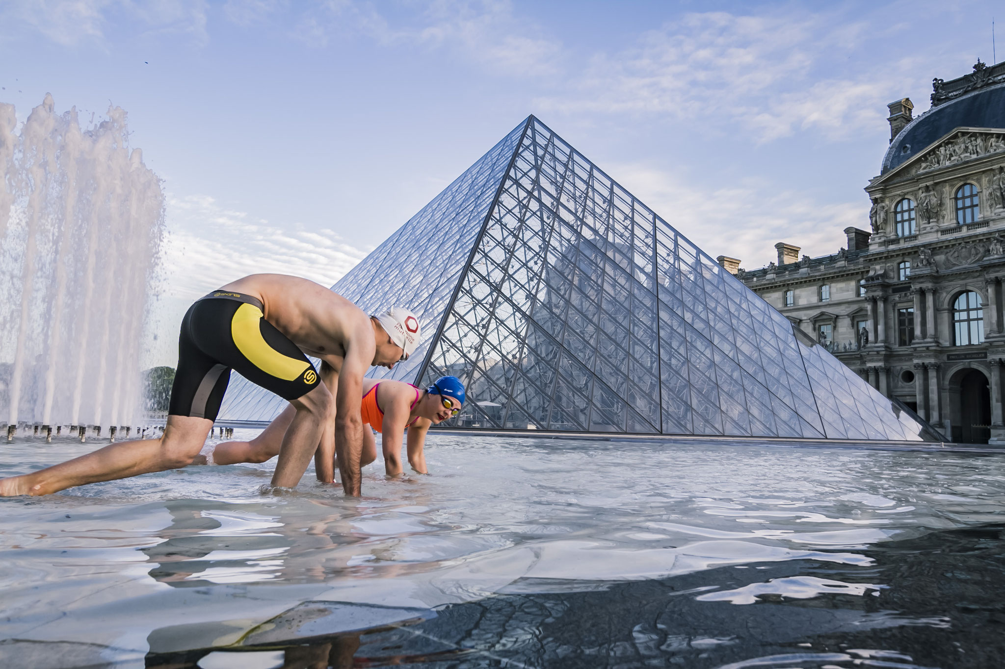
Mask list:
[{"label": "dark curved dome roof atop the ornate stone building", "polygon": [[890,142],[880,174],[907,162],[957,127],[1005,128],[1005,83],[944,102],[908,123]]}]

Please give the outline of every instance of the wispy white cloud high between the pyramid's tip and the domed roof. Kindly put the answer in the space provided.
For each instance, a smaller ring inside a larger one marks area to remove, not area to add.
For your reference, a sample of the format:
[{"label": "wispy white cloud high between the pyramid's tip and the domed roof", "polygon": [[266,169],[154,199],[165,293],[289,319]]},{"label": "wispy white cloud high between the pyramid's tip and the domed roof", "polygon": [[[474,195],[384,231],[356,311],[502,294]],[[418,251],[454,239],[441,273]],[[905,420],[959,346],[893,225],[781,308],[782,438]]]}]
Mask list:
[{"label": "wispy white cloud high between the pyramid's tip and the domed roof", "polygon": [[888,91],[904,85],[895,59],[858,59],[851,76],[840,75],[834,63],[867,40],[881,41],[863,21],[788,5],[779,15],[685,14],[629,48],[594,55],[537,106],[698,121],[713,131],[739,125],[757,142],[809,129],[844,138],[881,126]]}]

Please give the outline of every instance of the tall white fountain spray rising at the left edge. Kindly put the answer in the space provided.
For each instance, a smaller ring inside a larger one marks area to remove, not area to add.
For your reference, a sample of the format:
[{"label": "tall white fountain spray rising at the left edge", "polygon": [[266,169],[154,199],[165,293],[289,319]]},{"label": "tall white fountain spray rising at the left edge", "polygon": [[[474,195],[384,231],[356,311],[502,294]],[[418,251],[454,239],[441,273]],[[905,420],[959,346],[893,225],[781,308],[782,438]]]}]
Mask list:
[{"label": "tall white fountain spray rising at the left edge", "polygon": [[164,194],[123,109],[81,128],[54,106],[46,95],[18,128],[0,103],[0,402],[10,438],[27,421],[82,440],[141,412]]}]

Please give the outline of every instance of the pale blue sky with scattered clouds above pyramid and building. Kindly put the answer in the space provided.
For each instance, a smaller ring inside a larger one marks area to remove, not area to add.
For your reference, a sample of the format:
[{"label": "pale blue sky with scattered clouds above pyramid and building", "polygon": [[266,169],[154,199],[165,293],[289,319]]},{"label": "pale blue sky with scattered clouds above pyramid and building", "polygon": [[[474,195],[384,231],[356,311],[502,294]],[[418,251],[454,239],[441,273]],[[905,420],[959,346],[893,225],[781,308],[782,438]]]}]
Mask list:
[{"label": "pale blue sky with scattered clouds above pyramid and building", "polygon": [[145,362],[173,365],[193,299],[335,283],[531,113],[713,257],[834,253],[886,103],[995,62],[996,5],[0,0],[0,101],[128,111],[167,197]]}]

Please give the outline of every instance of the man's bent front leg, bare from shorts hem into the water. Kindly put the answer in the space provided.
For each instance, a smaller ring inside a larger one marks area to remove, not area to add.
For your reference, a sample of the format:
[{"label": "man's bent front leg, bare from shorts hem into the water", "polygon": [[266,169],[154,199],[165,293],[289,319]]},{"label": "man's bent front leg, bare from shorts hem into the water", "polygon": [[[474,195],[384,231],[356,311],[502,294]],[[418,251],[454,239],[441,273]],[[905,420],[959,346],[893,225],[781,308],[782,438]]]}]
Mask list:
[{"label": "man's bent front leg, bare from shorts hem into the water", "polygon": [[324,383],[319,383],[311,392],[289,403],[296,413],[279,446],[279,461],[272,474],[272,485],[276,487],[295,487],[300,481],[318,449],[326,422],[333,420],[335,414],[332,393]]}]

